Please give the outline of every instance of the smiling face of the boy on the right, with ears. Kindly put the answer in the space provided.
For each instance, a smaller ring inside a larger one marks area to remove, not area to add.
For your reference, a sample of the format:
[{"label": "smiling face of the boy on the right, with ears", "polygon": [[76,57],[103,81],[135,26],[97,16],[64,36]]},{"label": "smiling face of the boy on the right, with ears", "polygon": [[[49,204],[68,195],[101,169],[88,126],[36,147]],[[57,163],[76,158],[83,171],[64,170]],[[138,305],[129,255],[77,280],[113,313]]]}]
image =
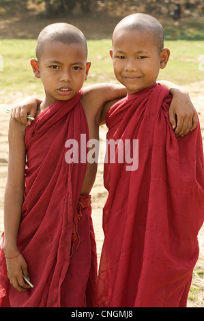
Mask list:
[{"label": "smiling face of the boy on the right, with ears", "polygon": [[154,85],[160,68],[164,68],[169,59],[166,50],[159,53],[151,33],[146,31],[122,31],[113,39],[110,51],[113,69],[117,80],[126,86],[128,95]]}]

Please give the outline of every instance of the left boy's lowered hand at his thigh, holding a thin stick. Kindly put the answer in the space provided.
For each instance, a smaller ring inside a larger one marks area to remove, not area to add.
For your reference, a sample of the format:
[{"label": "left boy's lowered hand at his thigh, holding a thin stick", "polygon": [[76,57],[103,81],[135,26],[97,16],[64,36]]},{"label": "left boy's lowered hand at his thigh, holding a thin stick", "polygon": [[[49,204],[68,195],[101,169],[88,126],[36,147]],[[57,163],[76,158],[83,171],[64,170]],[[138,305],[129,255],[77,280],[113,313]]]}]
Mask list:
[{"label": "left boy's lowered hand at his thigh, holding a thin stick", "polygon": [[6,266],[8,270],[8,279],[16,290],[25,292],[27,289],[31,288],[23,279],[23,274],[29,279],[27,263],[23,255],[19,254],[17,257],[6,259]]}]

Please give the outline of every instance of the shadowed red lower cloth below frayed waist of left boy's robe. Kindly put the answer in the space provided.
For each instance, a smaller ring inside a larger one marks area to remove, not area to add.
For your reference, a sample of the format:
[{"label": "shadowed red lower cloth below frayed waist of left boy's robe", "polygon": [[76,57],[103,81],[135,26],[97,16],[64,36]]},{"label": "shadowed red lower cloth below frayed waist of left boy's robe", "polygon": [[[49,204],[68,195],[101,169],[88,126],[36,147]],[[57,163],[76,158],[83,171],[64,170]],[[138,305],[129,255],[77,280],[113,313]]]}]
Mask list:
[{"label": "shadowed red lower cloth below frayed waist of left boy's robe", "polygon": [[93,307],[97,272],[91,195],[82,194],[74,213],[72,251],[68,273],[61,290],[61,306]]}]

